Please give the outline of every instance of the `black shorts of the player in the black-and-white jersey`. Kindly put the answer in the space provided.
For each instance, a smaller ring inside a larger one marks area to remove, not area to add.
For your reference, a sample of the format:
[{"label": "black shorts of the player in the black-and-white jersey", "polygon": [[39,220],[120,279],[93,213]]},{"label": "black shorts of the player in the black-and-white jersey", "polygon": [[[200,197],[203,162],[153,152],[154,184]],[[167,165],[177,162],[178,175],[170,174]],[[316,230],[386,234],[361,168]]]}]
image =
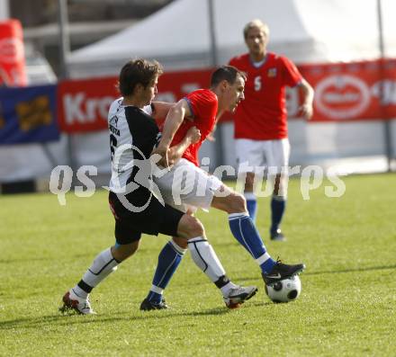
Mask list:
[{"label": "black shorts of the player in the black-and-white jersey", "polygon": [[115,219],[115,239],[120,245],[138,241],[142,233],[177,236],[177,227],[184,215],[171,206],[164,207],[155,196],[151,196],[148,206],[141,212],[128,210],[113,192],[109,193],[109,204]]}]

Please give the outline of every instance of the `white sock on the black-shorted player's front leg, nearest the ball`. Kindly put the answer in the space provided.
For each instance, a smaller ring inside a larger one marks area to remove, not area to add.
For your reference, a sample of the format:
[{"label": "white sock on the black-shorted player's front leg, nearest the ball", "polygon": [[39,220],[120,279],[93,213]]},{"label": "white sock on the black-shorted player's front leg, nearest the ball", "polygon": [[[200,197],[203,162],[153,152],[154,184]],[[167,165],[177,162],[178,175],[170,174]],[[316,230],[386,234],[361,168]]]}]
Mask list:
[{"label": "white sock on the black-shorted player's front leg, nearest the ball", "polygon": [[193,262],[211,281],[218,281],[221,276],[226,274],[213,248],[203,237],[189,239],[188,249],[190,250]]}]

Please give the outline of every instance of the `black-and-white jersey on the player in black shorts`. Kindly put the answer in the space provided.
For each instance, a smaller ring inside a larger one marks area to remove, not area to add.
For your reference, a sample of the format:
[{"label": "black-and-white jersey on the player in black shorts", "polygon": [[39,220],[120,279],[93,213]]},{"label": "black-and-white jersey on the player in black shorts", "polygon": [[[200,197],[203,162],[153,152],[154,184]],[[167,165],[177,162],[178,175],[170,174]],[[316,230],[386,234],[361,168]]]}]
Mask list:
[{"label": "black-and-white jersey on the player in black shorts", "polygon": [[137,160],[148,159],[159,135],[156,121],[148,115],[149,105],[142,110],[122,101],[121,97],[112,102],[107,117],[112,155],[109,188],[115,193],[125,192],[126,184],[134,181]]}]

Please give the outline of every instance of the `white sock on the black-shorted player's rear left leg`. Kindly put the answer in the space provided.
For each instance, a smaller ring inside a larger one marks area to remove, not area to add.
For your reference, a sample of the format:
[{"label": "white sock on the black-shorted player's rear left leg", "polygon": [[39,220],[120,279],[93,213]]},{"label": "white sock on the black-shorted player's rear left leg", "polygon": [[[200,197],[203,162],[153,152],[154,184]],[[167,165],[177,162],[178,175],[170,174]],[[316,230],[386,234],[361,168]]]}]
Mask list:
[{"label": "white sock on the black-shorted player's rear left leg", "polygon": [[111,248],[103,250],[94,258],[94,263],[83,276],[83,281],[91,288],[103,281],[111,272],[117,270],[119,263],[112,256]]}]

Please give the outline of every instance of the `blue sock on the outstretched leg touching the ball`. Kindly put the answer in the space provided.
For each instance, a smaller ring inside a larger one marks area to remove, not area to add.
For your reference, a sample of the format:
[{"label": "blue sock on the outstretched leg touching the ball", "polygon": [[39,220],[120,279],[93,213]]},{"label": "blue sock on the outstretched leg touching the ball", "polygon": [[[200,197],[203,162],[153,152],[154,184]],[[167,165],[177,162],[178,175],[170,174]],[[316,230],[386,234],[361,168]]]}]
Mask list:
[{"label": "blue sock on the outstretched leg touching the ball", "polygon": [[258,234],[253,220],[247,213],[229,214],[229,228],[231,228],[231,232],[238,242],[253,256],[261,271],[271,272],[275,260],[266,253],[266,246]]}]

